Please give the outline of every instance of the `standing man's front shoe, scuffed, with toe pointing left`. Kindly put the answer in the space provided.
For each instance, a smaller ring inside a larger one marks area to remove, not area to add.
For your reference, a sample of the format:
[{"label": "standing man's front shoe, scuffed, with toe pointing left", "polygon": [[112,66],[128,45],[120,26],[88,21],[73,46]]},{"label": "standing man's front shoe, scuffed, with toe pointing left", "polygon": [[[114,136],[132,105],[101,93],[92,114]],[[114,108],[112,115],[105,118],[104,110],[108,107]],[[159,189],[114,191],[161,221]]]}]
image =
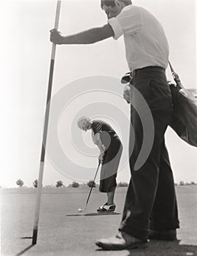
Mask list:
[{"label": "standing man's front shoe, scuffed, with toe pointing left", "polygon": [[118,232],[116,236],[96,241],[96,245],[105,250],[136,249],[147,247],[147,241],[142,241],[125,232]]}]

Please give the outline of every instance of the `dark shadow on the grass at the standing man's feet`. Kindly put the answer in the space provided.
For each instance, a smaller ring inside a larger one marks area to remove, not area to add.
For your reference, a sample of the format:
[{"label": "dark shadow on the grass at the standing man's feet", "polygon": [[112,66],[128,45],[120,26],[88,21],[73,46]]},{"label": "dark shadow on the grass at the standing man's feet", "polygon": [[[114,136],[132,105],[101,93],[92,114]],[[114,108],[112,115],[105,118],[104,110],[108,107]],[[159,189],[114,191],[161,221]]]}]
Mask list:
[{"label": "dark shadow on the grass at the standing man's feet", "polygon": [[[179,244],[180,241],[150,241],[145,249],[128,249],[125,256],[196,256],[197,246]],[[96,251],[104,251],[96,249]]]}]

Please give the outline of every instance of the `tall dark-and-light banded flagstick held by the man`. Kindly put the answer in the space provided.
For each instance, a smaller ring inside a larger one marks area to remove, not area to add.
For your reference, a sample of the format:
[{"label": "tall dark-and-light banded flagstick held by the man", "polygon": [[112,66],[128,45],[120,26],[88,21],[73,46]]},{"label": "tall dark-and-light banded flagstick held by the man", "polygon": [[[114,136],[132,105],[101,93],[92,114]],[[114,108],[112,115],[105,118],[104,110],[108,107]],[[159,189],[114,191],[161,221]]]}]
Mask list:
[{"label": "tall dark-and-light banded flagstick held by the man", "polygon": [[[58,0],[56,14],[55,14],[55,29],[58,29],[60,9],[61,9],[61,1]],[[40,209],[40,201],[41,201],[41,193],[42,193],[42,178],[43,178],[43,171],[44,171],[44,165],[45,165],[45,146],[47,143],[47,129],[48,129],[48,121],[49,121],[49,113],[50,113],[50,98],[51,98],[51,91],[52,91],[52,84],[53,84],[53,69],[54,69],[54,63],[55,63],[55,50],[56,50],[56,45],[53,44],[52,52],[51,52],[51,59],[50,59],[50,74],[49,74],[48,91],[47,91],[45,127],[44,127],[43,138],[42,138],[42,153],[41,153],[41,159],[40,159],[40,164],[39,164],[39,180],[38,180],[38,187],[37,187],[37,194],[36,194],[36,209],[35,209],[33,241],[32,241],[33,245],[36,244],[37,234],[38,234],[39,209]]]}]

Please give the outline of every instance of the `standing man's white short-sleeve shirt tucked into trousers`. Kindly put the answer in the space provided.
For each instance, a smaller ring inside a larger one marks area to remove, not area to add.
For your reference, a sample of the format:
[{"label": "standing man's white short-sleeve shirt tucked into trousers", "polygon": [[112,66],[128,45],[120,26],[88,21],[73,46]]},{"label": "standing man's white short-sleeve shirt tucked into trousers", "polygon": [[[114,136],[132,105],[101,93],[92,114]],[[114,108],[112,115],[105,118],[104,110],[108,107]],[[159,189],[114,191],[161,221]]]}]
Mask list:
[{"label": "standing man's white short-sleeve shirt tucked into trousers", "polygon": [[125,53],[131,71],[148,66],[166,69],[169,61],[169,43],[161,23],[143,7],[133,4],[124,7],[115,18],[108,20],[115,33],[122,35]]}]

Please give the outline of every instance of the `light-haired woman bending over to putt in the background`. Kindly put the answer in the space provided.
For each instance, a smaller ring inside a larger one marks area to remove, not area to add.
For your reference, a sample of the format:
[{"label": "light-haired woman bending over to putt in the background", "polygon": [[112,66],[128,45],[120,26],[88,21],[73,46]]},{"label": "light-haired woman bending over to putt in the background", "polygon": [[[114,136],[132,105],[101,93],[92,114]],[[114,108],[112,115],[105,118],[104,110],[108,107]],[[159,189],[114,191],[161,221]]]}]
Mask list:
[{"label": "light-haired woman bending over to putt in the background", "polygon": [[123,146],[112,127],[101,120],[91,120],[82,116],[77,125],[83,131],[92,130],[93,143],[99,147],[99,162],[102,163],[99,191],[107,193],[107,203],[97,211],[115,211],[116,176]]}]

